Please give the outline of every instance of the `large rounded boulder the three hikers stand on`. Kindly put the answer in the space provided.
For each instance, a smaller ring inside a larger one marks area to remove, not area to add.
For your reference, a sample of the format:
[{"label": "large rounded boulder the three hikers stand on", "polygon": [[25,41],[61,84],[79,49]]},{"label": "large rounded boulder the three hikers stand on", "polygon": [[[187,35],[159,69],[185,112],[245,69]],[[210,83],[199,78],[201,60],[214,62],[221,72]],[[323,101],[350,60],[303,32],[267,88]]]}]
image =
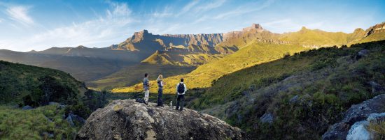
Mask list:
[{"label": "large rounded boulder the three hikers stand on", "polygon": [[76,139],[246,139],[244,132],[191,109],[114,100],[86,120]]}]

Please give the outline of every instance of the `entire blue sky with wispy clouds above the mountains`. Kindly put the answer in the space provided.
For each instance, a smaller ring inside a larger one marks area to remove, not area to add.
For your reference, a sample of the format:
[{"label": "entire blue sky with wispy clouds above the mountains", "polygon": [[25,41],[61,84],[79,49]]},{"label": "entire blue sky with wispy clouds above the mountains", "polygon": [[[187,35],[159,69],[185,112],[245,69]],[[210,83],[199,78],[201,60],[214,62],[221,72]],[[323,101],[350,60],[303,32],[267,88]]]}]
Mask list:
[{"label": "entire blue sky with wispy clouds above the mountains", "polygon": [[143,29],[225,33],[259,23],[275,33],[302,26],[351,33],[381,22],[383,0],[0,0],[0,49],[107,47]]}]

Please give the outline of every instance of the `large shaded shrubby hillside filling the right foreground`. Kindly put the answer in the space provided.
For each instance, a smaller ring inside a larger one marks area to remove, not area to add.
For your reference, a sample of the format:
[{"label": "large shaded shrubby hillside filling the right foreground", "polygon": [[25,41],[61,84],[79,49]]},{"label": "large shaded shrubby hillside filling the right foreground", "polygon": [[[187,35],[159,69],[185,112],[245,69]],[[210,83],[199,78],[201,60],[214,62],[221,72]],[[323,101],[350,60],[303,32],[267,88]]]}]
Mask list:
[{"label": "large shaded shrubby hillside filling the right foreground", "polygon": [[384,93],[370,84],[385,85],[384,54],[385,41],[297,53],[225,75],[189,106],[255,139],[320,139],[351,104]]}]

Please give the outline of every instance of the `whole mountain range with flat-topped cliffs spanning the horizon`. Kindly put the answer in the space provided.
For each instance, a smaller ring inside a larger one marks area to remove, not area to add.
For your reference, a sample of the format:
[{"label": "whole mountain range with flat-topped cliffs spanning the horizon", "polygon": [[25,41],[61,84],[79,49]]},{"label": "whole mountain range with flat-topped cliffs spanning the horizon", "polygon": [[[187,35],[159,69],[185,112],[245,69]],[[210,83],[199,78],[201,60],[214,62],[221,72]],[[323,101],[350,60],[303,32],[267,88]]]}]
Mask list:
[{"label": "whole mountain range with flat-topped cliffs spanning the horizon", "polygon": [[[0,50],[0,59],[63,70],[69,72],[76,79],[85,81],[87,85],[99,88],[106,87],[104,86],[106,83],[101,81],[108,81],[107,83],[112,88],[130,86],[138,81],[130,80],[132,79],[131,75],[118,75],[130,73],[121,72],[121,70],[141,68],[141,71],[145,72],[153,71],[158,67],[157,65],[175,65],[184,69],[178,75],[187,74],[194,77],[193,75],[201,75],[202,73],[208,75],[209,71],[213,70],[211,68],[213,65],[220,63],[233,65],[229,68],[224,67],[224,69],[231,70],[220,70],[223,72],[219,72],[216,77],[207,79],[209,81],[204,81],[206,84],[200,84],[200,86],[210,86],[212,80],[218,79],[222,75],[257,63],[278,59],[285,53],[293,54],[312,48],[381,40],[384,38],[384,26],[384,23],[377,24],[366,30],[356,29],[353,33],[327,32],[302,27],[300,31],[279,34],[263,29],[260,24],[252,24],[241,31],[210,34],[156,35],[143,30],[135,32],[132,37],[110,47],[90,48],[80,45],[78,47],[52,47],[38,52],[13,52],[2,49]],[[286,49],[279,51],[272,49],[272,52],[265,52],[266,55],[271,55],[268,56],[268,60],[264,61],[247,59],[253,54],[249,51],[241,51],[246,47],[264,49],[263,46],[266,45],[272,48],[283,46]],[[244,60],[241,64],[235,62],[237,56],[243,58],[239,59]],[[191,68],[197,69],[189,73]],[[164,73],[167,73],[166,71],[165,69],[162,70]],[[159,72],[153,74],[156,75]]]}]

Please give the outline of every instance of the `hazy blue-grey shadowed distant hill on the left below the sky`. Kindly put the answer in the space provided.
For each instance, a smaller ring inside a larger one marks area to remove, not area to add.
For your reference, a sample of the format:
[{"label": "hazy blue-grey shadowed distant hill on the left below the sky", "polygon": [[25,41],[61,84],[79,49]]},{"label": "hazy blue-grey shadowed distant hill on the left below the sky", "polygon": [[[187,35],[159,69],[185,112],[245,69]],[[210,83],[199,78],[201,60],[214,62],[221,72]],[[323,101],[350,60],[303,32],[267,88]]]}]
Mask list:
[{"label": "hazy blue-grey shadowed distant hill on the left below the sky", "polygon": [[139,63],[149,55],[83,46],[52,47],[40,52],[0,50],[0,59],[3,61],[63,70],[81,81],[93,81],[110,75],[127,65]]}]

